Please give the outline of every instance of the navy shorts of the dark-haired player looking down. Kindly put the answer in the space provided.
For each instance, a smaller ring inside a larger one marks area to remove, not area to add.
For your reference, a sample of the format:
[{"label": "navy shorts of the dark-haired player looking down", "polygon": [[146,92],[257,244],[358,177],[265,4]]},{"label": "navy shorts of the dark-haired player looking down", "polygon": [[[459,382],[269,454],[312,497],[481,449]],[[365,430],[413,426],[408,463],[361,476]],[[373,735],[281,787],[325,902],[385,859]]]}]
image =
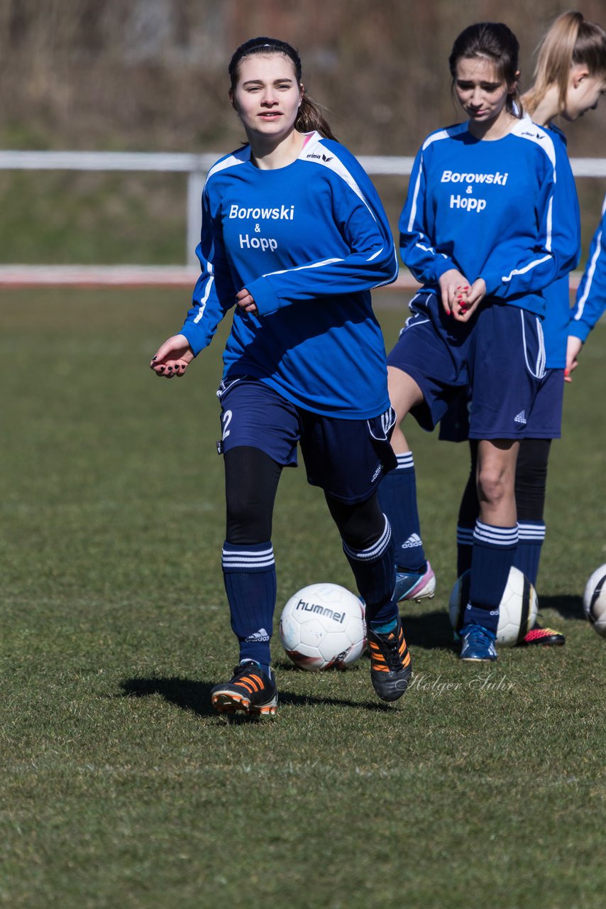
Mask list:
[{"label": "navy shorts of the dark-haired player looking down", "polygon": [[469,386],[469,438],[523,438],[545,375],[541,318],[487,299],[461,323],[428,292],[413,297],[411,311],[387,363],[421,388],[411,410],[419,425],[431,431]]}]

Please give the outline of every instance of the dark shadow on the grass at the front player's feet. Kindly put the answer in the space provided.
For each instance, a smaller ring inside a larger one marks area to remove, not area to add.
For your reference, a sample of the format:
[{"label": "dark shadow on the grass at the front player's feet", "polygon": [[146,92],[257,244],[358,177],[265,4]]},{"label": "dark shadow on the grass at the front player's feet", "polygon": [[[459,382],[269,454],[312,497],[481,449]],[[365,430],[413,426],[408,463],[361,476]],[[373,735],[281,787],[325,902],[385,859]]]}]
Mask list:
[{"label": "dark shadow on the grass at the front player's feet", "polygon": [[[290,666],[281,665],[281,670],[290,670]],[[294,672],[301,670],[292,667]],[[124,697],[149,697],[152,694],[160,694],[169,704],[174,704],[182,710],[191,710],[198,716],[218,716],[211,706],[211,690],[216,683],[194,682],[193,679],[182,678],[132,678],[124,679],[121,683],[122,694]],[[294,694],[291,691],[284,690],[282,685],[278,686],[279,705],[309,707],[314,705],[336,706],[336,707],[353,707],[359,710],[363,707],[365,710],[387,711],[392,709],[389,704],[381,702],[367,701],[346,701],[336,697],[314,697],[311,694]],[[278,708],[279,709],[279,708]],[[245,719],[248,717],[236,714],[230,719]]]}]

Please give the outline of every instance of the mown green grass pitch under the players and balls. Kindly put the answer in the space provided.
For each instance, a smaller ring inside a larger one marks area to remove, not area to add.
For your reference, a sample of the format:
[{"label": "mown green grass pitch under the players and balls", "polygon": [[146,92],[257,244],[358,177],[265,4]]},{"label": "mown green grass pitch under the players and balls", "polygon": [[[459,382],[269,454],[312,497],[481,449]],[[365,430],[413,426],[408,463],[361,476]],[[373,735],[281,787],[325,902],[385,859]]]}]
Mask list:
[{"label": "mown green grass pitch under the players and balls", "polygon": [[[235,649],[220,567],[221,341],[147,369],[188,294],[3,292],[0,904],[17,909],[601,909],[606,642],[581,592],[606,562],[599,326],[554,445],[541,612],[566,647],[462,665],[446,615],[465,446],[411,429],[438,594],[404,615],[392,706],[366,658],[274,661],[274,721],[212,714]],[[376,295],[388,344],[402,305]],[[352,586],[322,494],[285,471],[278,612]]]}]

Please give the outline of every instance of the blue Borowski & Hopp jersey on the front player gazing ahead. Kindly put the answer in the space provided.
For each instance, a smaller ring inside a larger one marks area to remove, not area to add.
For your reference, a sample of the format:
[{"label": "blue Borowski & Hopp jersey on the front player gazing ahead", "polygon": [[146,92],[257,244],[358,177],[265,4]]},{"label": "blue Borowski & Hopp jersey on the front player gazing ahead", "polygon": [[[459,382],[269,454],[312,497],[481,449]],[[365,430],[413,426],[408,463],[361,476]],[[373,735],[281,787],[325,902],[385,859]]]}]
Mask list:
[{"label": "blue Borowski & Hopp jersey on the front player gazing ahead", "polygon": [[317,414],[366,419],[389,407],[385,350],[370,290],[398,263],[373,184],[343,145],[313,133],[286,167],[261,170],[250,146],[204,185],[202,266],[182,334],[194,355],[246,287],[224,377],[252,375]]}]

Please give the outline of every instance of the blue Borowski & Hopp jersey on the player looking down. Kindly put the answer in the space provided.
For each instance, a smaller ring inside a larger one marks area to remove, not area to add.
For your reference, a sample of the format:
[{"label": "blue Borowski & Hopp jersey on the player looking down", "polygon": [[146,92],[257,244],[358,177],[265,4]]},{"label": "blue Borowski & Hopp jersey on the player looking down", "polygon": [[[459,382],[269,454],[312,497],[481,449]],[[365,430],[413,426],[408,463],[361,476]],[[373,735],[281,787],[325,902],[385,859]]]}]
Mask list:
[{"label": "blue Borowski & Hopp jersey on the player looking down", "polygon": [[551,137],[529,117],[494,141],[475,139],[468,124],[432,133],[402,210],[403,262],[436,292],[456,268],[471,283],[482,277],[487,296],[544,315],[542,291],[571,261],[556,242],[556,180]]}]

